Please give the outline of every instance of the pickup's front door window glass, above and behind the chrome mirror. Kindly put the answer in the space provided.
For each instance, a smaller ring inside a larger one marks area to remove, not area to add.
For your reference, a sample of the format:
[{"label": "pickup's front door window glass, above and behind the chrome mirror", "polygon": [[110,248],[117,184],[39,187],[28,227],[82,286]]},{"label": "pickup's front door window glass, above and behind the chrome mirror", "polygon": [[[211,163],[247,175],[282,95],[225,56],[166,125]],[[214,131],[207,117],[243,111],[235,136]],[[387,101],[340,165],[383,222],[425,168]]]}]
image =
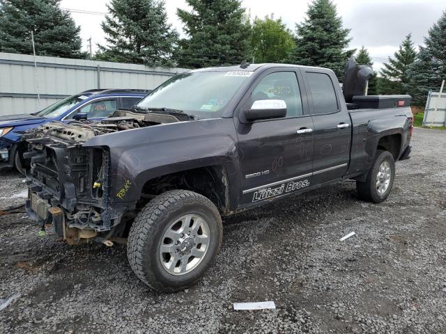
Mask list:
[{"label": "pickup's front door window glass, above and behind the chrome mirror", "polygon": [[286,117],[302,115],[302,100],[295,72],[275,72],[264,77],[251,93],[257,100],[284,100]]}]

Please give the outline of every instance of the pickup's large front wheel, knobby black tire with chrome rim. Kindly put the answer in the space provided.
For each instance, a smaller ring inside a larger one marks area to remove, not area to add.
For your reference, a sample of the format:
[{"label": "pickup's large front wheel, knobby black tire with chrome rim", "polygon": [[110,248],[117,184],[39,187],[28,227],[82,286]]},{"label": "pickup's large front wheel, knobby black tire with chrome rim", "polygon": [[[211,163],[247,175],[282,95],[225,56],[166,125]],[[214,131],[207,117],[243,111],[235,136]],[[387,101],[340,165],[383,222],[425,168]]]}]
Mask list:
[{"label": "pickup's large front wheel, knobby black tire with chrome rim", "polygon": [[222,218],[208,198],[192,191],[167,191],[148,202],[130,228],[130,267],[153,289],[185,289],[210,267],[222,234]]}]

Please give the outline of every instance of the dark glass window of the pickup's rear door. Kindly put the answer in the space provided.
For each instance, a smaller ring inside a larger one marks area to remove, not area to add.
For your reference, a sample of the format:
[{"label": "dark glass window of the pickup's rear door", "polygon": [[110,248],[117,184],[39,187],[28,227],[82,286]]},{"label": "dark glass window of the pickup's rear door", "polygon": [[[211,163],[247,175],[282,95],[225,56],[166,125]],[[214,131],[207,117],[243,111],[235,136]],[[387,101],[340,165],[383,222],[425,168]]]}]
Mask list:
[{"label": "dark glass window of the pickup's rear door", "polygon": [[328,74],[307,72],[307,80],[313,98],[313,113],[332,113],[339,109]]}]

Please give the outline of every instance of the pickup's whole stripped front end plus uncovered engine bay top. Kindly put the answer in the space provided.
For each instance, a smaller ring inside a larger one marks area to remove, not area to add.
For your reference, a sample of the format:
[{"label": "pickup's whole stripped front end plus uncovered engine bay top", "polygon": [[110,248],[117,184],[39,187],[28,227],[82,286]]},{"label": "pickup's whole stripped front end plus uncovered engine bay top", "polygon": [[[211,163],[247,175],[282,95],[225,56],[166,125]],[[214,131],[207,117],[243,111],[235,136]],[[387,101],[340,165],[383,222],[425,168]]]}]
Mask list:
[{"label": "pickup's whole stripped front end plus uncovered engine bay top", "polygon": [[118,232],[128,208],[109,205],[107,147],[83,144],[95,136],[187,120],[192,118],[185,113],[119,110],[102,121],[49,122],[25,132],[29,216],[43,229],[45,224],[54,225],[69,244],[107,241]]}]

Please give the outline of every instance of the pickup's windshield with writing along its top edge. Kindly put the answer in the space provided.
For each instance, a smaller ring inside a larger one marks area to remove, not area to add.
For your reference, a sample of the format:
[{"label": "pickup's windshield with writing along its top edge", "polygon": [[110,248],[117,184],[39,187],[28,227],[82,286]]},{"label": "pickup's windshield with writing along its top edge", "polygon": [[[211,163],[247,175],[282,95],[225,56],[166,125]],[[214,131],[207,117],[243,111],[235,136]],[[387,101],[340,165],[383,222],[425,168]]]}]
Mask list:
[{"label": "pickup's windshield with writing along its top edge", "polygon": [[153,90],[137,107],[179,109],[198,118],[218,118],[251,74],[247,71],[179,74]]}]

